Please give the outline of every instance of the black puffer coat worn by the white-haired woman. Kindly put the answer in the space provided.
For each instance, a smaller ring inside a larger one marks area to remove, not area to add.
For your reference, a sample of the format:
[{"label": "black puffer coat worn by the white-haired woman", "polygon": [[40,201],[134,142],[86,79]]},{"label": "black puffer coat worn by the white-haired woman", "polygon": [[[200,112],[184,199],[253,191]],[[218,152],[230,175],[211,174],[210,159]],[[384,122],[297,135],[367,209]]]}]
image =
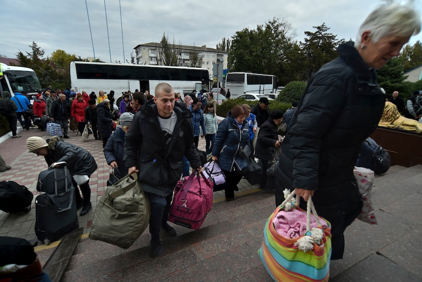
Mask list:
[{"label": "black puffer coat worn by the white-haired woman", "polygon": [[281,146],[279,188],[318,190],[316,205],[344,199],[344,187],[355,182],[359,146],[374,132],[385,103],[375,70],[358,51],[350,44],[337,51],[309,81]]}]

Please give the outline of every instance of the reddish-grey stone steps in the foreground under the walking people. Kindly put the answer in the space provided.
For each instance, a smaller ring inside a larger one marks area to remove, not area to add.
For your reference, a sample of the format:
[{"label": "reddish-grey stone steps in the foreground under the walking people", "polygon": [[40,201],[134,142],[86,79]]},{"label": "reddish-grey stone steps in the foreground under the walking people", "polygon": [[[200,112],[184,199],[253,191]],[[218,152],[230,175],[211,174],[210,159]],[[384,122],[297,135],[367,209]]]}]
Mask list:
[{"label": "reddish-grey stone steps in the foreground under the walking people", "polygon": [[[422,234],[421,183],[422,165],[394,166],[376,176],[372,198],[378,225],[356,220],[346,230],[344,259],[330,265],[334,281],[363,281],[366,277],[371,281],[422,279],[416,266],[422,259],[422,244],[417,239]],[[414,210],[406,212],[405,203]],[[164,255],[158,258],[149,256],[148,230],[127,250],[83,238],[61,281],[272,281],[257,251],[263,226],[274,208],[274,195],[264,191],[214,203],[200,230],[173,225],[178,236],[163,235]],[[406,249],[410,256],[406,258],[413,266],[400,258],[403,245],[410,248]],[[41,251],[39,256],[48,256],[48,252]],[[370,273],[374,269],[379,278]]]}]

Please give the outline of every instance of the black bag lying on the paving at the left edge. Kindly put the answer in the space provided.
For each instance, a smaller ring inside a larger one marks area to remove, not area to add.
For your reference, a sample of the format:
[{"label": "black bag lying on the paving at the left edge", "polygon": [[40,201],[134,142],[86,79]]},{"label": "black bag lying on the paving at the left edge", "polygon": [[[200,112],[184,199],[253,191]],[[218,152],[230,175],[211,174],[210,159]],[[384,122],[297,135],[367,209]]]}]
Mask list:
[{"label": "black bag lying on the paving at the left edge", "polygon": [[5,212],[29,212],[34,195],[15,181],[0,181],[0,209]]}]

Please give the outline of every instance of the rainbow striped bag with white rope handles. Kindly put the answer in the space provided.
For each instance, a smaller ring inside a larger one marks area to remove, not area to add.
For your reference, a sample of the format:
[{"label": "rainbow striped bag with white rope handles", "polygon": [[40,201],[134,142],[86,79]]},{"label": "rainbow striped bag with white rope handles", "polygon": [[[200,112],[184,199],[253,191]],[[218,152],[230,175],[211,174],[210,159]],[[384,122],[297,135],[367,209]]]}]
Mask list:
[{"label": "rainbow striped bag with white rope handles", "polygon": [[[265,224],[264,238],[258,254],[274,281],[326,282],[329,278],[331,256],[331,225],[317,215],[311,197],[307,202],[308,211],[305,211],[299,207],[299,201],[295,202],[294,194],[295,191],[284,191],[285,201],[276,208]],[[299,238],[282,236],[273,224],[281,210],[289,211],[293,208],[306,213],[306,233]],[[310,228],[311,211],[318,228]],[[322,227],[321,220],[327,223],[327,228]]]}]

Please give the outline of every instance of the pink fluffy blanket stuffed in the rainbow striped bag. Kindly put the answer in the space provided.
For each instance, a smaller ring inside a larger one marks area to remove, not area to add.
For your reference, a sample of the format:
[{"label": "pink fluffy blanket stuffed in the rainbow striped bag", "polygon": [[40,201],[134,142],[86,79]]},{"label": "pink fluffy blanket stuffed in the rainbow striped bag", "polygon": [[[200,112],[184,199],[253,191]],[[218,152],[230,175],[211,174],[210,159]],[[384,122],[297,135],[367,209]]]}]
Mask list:
[{"label": "pink fluffy blanket stuffed in the rainbow striped bag", "polygon": [[[327,222],[320,218],[322,227],[328,228]],[[273,220],[277,233],[286,238],[299,238],[306,232],[306,211],[292,209],[290,211],[281,210]],[[318,227],[315,216],[311,214],[311,229]]]}]

